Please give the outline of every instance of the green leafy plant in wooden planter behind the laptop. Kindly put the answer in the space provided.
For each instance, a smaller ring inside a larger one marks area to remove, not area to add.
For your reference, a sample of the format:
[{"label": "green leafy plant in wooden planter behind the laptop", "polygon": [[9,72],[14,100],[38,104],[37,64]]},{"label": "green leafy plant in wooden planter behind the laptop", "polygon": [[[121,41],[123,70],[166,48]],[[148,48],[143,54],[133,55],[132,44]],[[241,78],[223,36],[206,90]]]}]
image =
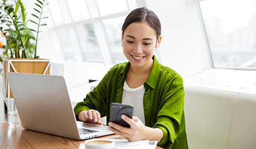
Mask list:
[{"label": "green leafy plant in wooden planter behind the laptop", "polygon": [[[4,58],[0,60],[4,67],[4,94],[8,99],[12,95],[8,89],[6,72],[50,74],[51,62],[50,59],[39,59],[37,56],[39,29],[46,26],[42,20],[48,18],[43,16],[43,8],[48,5],[46,0],[35,0],[34,13],[31,14],[33,20],[27,19],[28,13],[21,0],[14,0],[14,6],[6,5],[5,1],[0,4],[0,31],[6,41]],[[29,28],[28,22],[36,25],[36,29]]]}]

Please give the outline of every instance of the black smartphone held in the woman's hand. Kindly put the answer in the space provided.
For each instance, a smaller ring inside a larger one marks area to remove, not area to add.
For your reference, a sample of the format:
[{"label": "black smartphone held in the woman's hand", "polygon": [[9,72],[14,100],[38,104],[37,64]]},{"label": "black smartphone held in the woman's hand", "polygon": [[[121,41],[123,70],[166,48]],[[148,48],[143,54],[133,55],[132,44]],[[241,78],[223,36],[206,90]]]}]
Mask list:
[{"label": "black smartphone held in the woman's hand", "polygon": [[111,103],[110,105],[110,121],[116,124],[119,124],[124,127],[130,127],[126,121],[121,118],[121,115],[124,114],[129,118],[132,118],[133,115],[133,105],[124,105],[121,103]]}]

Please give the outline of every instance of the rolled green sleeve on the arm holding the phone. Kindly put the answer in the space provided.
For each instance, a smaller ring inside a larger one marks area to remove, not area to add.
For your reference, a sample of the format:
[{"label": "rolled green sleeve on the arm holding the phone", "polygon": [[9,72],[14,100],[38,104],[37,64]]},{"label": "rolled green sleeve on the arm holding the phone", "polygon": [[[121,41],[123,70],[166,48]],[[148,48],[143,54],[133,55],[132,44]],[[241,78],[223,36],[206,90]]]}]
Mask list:
[{"label": "rolled green sleeve on the arm holding the phone", "polygon": [[168,86],[165,96],[161,99],[159,112],[156,117],[157,120],[153,126],[160,128],[164,133],[162,140],[158,143],[161,147],[165,147],[167,144],[173,144],[179,135],[184,109],[184,87],[182,78],[174,79]]}]

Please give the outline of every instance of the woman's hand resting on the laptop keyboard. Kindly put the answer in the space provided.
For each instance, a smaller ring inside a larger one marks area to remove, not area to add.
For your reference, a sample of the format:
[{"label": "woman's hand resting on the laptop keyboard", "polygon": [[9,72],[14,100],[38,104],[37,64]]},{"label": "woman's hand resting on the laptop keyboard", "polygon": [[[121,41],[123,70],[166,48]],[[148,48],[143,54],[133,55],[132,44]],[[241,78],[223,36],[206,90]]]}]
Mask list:
[{"label": "woman's hand resting on the laptop keyboard", "polygon": [[101,122],[101,119],[100,119],[100,112],[98,112],[94,109],[89,109],[88,111],[81,111],[78,114],[78,119],[80,121],[85,121],[88,123],[103,125],[103,123]]}]

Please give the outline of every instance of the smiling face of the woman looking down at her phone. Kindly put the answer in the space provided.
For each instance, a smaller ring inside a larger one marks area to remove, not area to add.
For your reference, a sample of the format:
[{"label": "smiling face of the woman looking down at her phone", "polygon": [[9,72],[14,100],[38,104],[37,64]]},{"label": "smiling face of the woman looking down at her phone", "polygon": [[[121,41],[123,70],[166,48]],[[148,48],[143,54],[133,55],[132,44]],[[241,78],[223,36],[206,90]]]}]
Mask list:
[{"label": "smiling face of the woman looking down at her phone", "polygon": [[131,23],[122,34],[123,51],[133,67],[153,64],[156,31],[146,22]]}]

